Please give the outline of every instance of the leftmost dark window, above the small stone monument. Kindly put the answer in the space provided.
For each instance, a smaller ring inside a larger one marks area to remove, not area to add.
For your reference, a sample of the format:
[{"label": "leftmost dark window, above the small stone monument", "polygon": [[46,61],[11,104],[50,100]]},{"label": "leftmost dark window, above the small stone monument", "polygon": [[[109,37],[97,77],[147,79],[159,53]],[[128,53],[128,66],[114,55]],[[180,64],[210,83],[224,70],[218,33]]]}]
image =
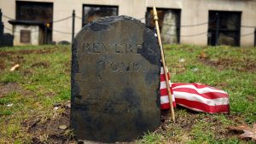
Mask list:
[{"label": "leftmost dark window, above the small stone monument", "polygon": [[49,23],[49,27],[44,27],[47,29],[45,42],[52,41],[53,3],[16,1],[16,20]]}]

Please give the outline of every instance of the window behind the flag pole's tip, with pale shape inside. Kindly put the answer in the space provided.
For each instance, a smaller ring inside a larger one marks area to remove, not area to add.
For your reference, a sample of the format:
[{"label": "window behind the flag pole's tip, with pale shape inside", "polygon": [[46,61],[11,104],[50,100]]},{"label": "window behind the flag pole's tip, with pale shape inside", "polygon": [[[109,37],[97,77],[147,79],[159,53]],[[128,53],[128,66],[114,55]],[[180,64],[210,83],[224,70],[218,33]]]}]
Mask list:
[{"label": "window behind the flag pole's tip, with pale shape inside", "polygon": [[[180,43],[181,9],[157,9],[160,33],[163,43]],[[154,29],[153,9],[148,8],[146,25]]]}]

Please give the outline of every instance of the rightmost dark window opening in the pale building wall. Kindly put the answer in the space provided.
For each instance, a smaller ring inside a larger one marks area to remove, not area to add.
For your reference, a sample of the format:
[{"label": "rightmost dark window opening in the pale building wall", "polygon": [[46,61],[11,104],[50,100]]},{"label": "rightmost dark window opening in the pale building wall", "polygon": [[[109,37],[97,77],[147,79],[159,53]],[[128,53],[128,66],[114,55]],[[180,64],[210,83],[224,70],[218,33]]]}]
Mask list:
[{"label": "rightmost dark window opening in the pale building wall", "polygon": [[241,12],[209,11],[208,45],[240,46]]}]

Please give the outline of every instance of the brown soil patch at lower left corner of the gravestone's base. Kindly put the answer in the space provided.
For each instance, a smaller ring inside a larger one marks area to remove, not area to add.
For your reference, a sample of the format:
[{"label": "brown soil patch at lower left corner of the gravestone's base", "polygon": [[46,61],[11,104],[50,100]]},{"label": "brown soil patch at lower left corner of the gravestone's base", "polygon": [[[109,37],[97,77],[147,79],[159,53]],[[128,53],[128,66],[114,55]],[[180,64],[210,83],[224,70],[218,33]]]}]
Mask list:
[{"label": "brown soil patch at lower left corner of the gravestone's base", "polygon": [[[43,120],[38,118],[33,121],[24,122],[28,133],[32,135],[32,143],[70,143],[73,141],[71,130],[69,130],[69,107],[61,106],[64,112],[58,113],[57,116]],[[66,125],[66,130],[61,130],[60,125]]]}]

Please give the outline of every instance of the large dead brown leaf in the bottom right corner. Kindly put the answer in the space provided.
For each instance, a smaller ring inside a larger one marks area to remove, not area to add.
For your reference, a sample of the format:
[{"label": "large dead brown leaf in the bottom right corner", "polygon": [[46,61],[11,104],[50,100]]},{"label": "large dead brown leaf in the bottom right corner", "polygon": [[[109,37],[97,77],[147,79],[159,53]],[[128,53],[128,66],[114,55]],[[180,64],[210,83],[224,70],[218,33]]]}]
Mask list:
[{"label": "large dead brown leaf in the bottom right corner", "polygon": [[256,140],[256,124],[253,124],[253,128],[250,128],[247,124],[242,124],[240,126],[232,126],[229,127],[229,130],[236,131],[236,132],[243,132],[239,137],[241,139],[251,138]]}]

